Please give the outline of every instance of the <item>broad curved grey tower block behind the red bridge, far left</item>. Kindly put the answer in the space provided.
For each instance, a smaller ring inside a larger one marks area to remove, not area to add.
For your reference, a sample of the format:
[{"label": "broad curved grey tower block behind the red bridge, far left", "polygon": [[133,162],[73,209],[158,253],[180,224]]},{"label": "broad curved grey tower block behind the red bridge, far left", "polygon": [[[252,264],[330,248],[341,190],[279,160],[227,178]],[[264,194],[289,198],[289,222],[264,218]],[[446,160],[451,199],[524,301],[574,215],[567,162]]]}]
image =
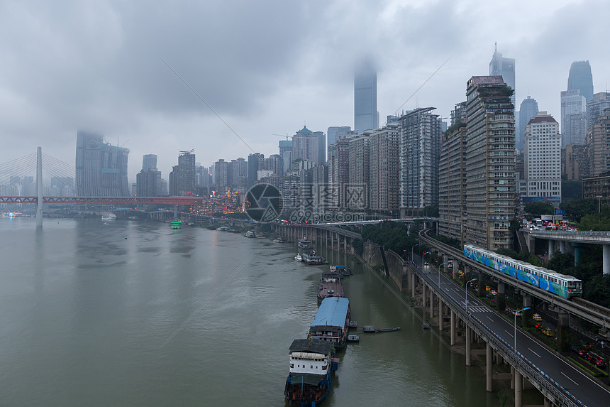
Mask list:
[{"label": "broad curved grey tower block behind the red bridge, far left", "polygon": [[106,143],[100,134],[77,133],[77,194],[81,197],[131,196],[127,181],[129,149]]}]

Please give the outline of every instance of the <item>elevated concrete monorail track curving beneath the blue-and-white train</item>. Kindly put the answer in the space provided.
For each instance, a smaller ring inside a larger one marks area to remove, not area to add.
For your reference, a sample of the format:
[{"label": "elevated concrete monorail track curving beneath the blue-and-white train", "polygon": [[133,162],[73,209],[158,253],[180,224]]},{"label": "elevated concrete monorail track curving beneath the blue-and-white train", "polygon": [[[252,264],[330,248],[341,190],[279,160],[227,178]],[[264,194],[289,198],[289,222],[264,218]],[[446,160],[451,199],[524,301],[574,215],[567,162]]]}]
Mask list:
[{"label": "elevated concrete monorail track curving beneath the blue-and-white train", "polygon": [[498,271],[486,267],[478,263],[477,261],[468,259],[466,256],[464,256],[463,252],[460,249],[455,249],[455,247],[453,246],[438,242],[438,240],[429,237],[428,232],[430,230],[431,229],[426,229],[419,232],[420,239],[422,240],[422,242],[428,244],[428,246],[435,247],[443,253],[453,256],[455,259],[460,259],[460,262],[462,262],[463,264],[467,264],[468,266],[475,268],[476,270],[482,271],[487,275],[496,278],[498,281],[518,288],[518,290],[522,293],[527,293],[528,295],[532,295],[533,297],[540,298],[541,300],[546,301],[550,305],[553,305],[556,308],[560,308],[560,310],[564,310],[565,312],[582,318],[583,320],[587,320],[596,325],[599,325],[604,330],[610,330],[610,310],[608,308],[601,307],[601,305],[591,303],[590,301],[583,300],[582,298],[572,298],[572,300],[566,300],[565,298],[562,298],[559,295],[548,293],[548,291],[540,290],[540,288],[517,280],[514,277],[508,276],[504,273],[499,273]]}]

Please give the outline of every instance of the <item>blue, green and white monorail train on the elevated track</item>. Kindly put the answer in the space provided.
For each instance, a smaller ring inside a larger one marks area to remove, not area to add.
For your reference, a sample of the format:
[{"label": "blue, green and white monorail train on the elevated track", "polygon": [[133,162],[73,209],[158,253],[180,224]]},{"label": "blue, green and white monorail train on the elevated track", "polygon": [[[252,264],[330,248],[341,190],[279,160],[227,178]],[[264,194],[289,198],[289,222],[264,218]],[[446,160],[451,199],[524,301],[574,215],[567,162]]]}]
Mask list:
[{"label": "blue, green and white monorail train on the elevated track", "polygon": [[464,256],[563,298],[582,297],[582,281],[575,277],[564,276],[548,268],[533,266],[472,244],[464,245]]}]

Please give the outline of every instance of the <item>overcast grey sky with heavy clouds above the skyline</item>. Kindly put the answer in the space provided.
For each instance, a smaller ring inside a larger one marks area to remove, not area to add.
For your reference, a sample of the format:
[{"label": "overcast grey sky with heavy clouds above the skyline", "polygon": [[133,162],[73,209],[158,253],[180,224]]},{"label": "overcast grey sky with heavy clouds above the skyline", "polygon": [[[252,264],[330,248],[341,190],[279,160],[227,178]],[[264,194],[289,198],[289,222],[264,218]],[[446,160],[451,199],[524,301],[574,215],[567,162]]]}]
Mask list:
[{"label": "overcast grey sky with heavy clouds above the skyline", "polygon": [[[403,109],[449,116],[488,75],[494,41],[528,94],[559,120],[574,60],[594,92],[609,80],[610,1],[0,1],[0,164],[43,152],[74,165],[77,130],[143,154],[167,179],[196,160],[277,153],[274,134],[354,126],[353,68],[378,67],[380,121]],[[231,126],[235,136],[162,62]]]}]

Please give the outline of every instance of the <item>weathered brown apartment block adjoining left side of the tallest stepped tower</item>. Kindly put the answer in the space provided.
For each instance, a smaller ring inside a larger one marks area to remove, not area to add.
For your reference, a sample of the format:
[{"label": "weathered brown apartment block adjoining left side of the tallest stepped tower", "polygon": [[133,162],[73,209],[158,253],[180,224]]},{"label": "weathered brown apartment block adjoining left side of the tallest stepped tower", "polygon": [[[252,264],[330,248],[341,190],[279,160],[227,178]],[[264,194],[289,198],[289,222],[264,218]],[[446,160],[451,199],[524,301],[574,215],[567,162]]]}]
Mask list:
[{"label": "weathered brown apartment block adjoining left side of the tallest stepped tower", "polygon": [[[457,107],[457,104],[455,105]],[[464,244],[466,122],[443,135],[438,163],[438,233]]]}]

